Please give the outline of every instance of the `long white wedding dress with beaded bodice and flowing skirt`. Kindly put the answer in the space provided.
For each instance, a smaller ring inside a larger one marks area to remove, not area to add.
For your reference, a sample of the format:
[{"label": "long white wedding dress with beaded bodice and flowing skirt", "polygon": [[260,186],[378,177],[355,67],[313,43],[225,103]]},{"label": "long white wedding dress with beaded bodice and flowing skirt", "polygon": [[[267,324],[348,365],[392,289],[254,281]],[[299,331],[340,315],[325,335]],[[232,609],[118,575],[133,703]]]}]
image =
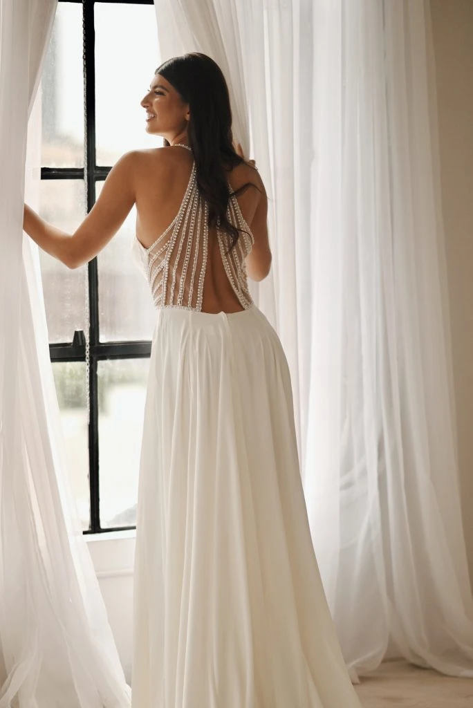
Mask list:
[{"label": "long white wedding dress with beaded bodice and flowing skirt", "polygon": [[[220,253],[244,308],[201,312],[207,205],[133,250],[157,309],[139,472],[133,708],[359,708],[304,503],[290,372],[251,301],[241,234]],[[228,217],[249,227],[236,198]],[[347,589],[348,591],[348,589]]]}]

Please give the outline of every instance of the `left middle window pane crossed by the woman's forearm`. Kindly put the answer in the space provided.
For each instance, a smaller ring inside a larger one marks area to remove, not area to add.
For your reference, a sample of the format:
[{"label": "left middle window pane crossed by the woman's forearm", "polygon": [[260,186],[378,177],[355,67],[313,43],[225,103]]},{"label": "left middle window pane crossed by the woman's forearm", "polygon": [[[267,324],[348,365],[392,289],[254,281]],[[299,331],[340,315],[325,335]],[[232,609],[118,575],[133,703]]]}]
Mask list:
[{"label": "left middle window pane crossed by the woman's forearm", "polygon": [[[84,181],[41,180],[40,215],[65,232],[74,233],[86,216]],[[72,342],[74,330],[85,331],[86,265],[71,270],[40,249],[50,343]]]}]

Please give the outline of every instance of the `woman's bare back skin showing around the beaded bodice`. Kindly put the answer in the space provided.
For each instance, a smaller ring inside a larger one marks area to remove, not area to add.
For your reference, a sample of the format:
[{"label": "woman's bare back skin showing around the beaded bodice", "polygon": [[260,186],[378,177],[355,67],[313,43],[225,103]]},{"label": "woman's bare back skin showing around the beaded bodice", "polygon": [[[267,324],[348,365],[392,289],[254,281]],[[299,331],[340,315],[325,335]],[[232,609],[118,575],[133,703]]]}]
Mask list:
[{"label": "woman's bare back skin showing around the beaded bodice", "polygon": [[[166,232],[173,219],[176,219],[186,195],[192,169],[193,154],[181,147],[140,152],[135,182],[136,238],[144,249],[149,249],[160,234]],[[261,190],[261,178],[257,171],[246,164],[228,171],[227,180],[233,190],[249,181],[258,185]],[[261,191],[256,188],[246,189],[238,198],[241,216],[250,229],[260,199]],[[243,309],[241,299],[237,297],[225,271],[215,228],[208,229],[202,296],[202,312],[239,312]]]}]

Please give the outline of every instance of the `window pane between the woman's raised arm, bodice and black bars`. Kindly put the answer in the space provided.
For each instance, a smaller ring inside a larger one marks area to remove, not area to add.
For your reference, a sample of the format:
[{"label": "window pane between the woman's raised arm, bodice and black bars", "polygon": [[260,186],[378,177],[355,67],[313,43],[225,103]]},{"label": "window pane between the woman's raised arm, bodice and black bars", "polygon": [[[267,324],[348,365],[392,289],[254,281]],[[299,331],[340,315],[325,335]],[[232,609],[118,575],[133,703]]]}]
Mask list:
[{"label": "window pane between the woman's raised arm, bodice and black bars", "polygon": [[[96,184],[100,193],[103,182]],[[151,339],[156,310],[148,282],[130,252],[135,238],[136,207],[120,231],[98,254],[100,339]]]}]

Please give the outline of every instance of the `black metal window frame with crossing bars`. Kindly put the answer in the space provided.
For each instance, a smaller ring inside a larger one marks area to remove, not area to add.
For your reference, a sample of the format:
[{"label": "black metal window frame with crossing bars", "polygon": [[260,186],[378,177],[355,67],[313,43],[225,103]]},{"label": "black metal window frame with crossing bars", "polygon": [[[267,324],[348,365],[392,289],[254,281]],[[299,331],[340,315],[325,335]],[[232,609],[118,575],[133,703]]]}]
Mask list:
[{"label": "black metal window frame with crossing bars", "polygon": [[[112,166],[96,164],[96,100],[95,100],[95,27],[96,4],[152,5],[153,0],[58,0],[81,4],[84,72],[84,168],[41,167],[41,179],[80,179],[86,188],[86,205],[89,213],[96,201],[96,182],[104,181]],[[90,525],[84,534],[97,534],[135,529],[133,526],[101,527],[100,486],[98,459],[98,362],[111,359],[149,358],[151,341],[100,341],[98,309],[98,266],[93,258],[89,274],[89,495]],[[86,337],[84,331],[74,332],[72,343],[50,344],[51,362],[85,362]]]}]

